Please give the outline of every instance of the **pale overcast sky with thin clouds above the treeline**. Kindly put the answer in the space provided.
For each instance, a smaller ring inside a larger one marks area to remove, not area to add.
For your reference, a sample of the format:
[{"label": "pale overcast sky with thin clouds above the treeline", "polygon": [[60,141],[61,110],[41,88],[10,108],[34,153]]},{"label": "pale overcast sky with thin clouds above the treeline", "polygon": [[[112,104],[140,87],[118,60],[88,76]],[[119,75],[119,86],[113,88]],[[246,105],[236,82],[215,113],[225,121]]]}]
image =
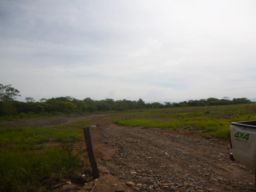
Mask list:
[{"label": "pale overcast sky with thin clouds above the treeline", "polygon": [[256,98],[255,0],[1,0],[0,83],[26,97]]}]

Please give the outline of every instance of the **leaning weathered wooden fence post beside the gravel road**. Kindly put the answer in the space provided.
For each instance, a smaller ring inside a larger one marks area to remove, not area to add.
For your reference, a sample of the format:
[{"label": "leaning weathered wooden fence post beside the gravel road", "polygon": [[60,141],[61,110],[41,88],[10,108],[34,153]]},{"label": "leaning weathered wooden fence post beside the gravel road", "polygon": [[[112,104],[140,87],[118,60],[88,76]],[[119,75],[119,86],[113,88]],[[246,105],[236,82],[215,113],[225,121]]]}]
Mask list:
[{"label": "leaning weathered wooden fence post beside the gravel road", "polygon": [[85,137],[86,150],[88,153],[89,161],[92,166],[92,175],[93,175],[93,178],[97,178],[97,177],[99,177],[99,171],[98,171],[97,163],[96,163],[94,155],[93,155],[92,141],[91,141],[89,127],[83,128],[83,135]]}]

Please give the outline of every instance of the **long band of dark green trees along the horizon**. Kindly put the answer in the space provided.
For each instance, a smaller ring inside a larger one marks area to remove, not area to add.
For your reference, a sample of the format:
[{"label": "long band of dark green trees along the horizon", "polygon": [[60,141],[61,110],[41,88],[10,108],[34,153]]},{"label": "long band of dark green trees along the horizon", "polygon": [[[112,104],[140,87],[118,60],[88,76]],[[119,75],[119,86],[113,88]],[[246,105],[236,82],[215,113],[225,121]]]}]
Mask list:
[{"label": "long band of dark green trees along the horizon", "polygon": [[91,113],[97,111],[124,111],[128,109],[152,109],[152,108],[171,108],[171,107],[190,107],[190,106],[211,106],[229,104],[248,104],[251,103],[247,98],[217,99],[208,98],[201,100],[189,100],[179,103],[159,102],[145,103],[142,99],[137,101],[130,100],[92,100],[87,97],[78,100],[73,97],[56,97],[51,99],[41,99],[35,102],[32,97],[27,97],[26,102],[16,100],[0,101],[0,116],[15,115],[21,113],[42,114],[42,113]]}]

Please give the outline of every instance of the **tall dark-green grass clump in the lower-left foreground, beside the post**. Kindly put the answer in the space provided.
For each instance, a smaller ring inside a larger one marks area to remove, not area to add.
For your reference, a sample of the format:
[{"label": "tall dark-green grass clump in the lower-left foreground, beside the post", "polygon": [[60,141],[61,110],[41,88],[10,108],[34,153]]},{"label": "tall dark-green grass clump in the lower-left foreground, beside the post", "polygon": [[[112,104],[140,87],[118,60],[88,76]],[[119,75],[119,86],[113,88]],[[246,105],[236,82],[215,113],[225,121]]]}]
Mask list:
[{"label": "tall dark-green grass clump in the lower-left foreground, beside the post", "polygon": [[12,149],[0,154],[0,192],[46,191],[44,182],[52,175],[64,178],[83,167],[81,152],[73,144],[44,152]]}]

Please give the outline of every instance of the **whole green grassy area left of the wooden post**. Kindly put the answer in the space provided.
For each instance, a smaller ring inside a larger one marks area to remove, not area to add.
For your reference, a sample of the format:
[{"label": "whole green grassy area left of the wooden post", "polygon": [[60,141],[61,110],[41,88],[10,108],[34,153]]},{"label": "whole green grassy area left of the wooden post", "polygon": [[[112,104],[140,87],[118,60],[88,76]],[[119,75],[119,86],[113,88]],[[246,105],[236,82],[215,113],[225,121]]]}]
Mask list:
[{"label": "whole green grassy area left of the wooden post", "polygon": [[[73,150],[88,121],[47,128],[0,128],[0,191],[47,191],[83,167]],[[50,182],[50,185],[49,185]]]}]

